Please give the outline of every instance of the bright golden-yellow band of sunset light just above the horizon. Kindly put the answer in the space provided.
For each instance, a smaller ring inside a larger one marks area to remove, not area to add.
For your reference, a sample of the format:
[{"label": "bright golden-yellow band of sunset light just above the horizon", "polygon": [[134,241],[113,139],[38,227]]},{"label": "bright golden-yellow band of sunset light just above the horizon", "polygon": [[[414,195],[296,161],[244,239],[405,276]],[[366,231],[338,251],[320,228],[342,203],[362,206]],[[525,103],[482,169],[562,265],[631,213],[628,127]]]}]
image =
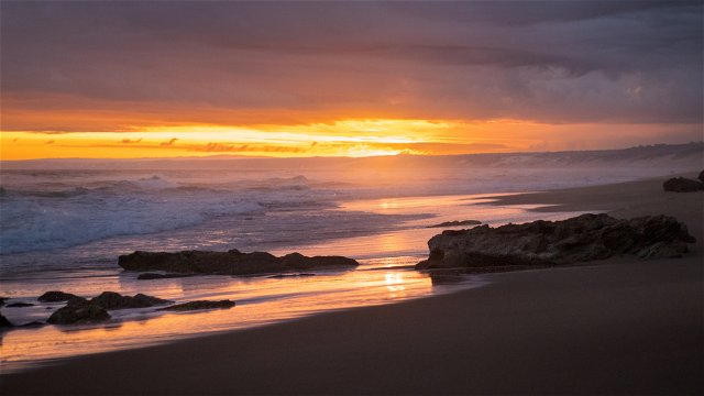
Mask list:
[{"label": "bright golden-yellow band of sunset light just above the horizon", "polygon": [[[510,151],[598,148],[627,144],[666,131],[688,134],[693,125],[544,124],[518,120],[483,122],[343,120],[301,125],[215,124],[144,127],[125,132],[3,131],[2,160],[143,158],[182,156],[373,156],[448,155]],[[614,138],[618,131],[619,138]],[[582,139],[562,141],[570,133]]]}]

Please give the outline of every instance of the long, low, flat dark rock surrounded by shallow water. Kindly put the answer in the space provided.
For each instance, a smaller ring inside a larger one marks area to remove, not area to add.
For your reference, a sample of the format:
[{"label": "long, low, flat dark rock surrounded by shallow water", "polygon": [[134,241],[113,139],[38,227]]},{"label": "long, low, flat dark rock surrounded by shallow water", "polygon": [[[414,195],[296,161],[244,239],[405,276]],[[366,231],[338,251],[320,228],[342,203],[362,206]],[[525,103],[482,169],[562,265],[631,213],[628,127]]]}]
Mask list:
[{"label": "long, low, flat dark rock surrounded by shallow water", "polygon": [[299,253],[277,257],[266,252],[242,253],[183,251],[141,252],[121,255],[118,264],[127,271],[164,271],[179,274],[253,275],[327,267],[353,267],[359,263],[342,256],[307,257]]}]

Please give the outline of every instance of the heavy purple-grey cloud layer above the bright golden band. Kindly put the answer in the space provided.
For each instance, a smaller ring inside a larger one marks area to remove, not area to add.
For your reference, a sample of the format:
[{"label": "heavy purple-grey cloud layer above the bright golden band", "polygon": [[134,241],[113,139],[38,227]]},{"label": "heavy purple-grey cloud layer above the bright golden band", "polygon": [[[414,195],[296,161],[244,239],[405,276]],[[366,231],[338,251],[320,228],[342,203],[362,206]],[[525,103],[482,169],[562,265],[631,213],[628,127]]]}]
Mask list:
[{"label": "heavy purple-grey cloud layer above the bright golden band", "polygon": [[1,7],[6,112],[702,121],[701,2]]}]

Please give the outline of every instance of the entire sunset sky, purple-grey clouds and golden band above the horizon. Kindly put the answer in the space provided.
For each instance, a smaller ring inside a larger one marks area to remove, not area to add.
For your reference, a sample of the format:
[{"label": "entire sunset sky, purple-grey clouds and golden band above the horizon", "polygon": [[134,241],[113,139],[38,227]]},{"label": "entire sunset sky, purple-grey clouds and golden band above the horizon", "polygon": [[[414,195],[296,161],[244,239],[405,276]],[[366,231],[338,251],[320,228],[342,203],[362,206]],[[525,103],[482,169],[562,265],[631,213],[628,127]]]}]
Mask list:
[{"label": "entire sunset sky, purple-grey clouds and golden band above the horizon", "polygon": [[0,2],[2,160],[703,139],[703,3]]}]

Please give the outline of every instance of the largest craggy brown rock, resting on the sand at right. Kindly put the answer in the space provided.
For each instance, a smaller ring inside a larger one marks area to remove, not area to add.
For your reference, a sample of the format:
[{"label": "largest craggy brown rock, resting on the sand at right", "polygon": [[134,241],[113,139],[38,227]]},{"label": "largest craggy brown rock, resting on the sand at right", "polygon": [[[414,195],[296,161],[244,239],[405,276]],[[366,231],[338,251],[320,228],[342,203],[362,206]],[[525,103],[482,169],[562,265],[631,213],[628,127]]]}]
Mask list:
[{"label": "largest craggy brown rock, resting on the sand at right", "polygon": [[676,257],[695,240],[668,216],[630,220],[582,215],[562,221],[534,221],[498,228],[443,231],[428,241],[428,260],[417,270],[559,265],[603,260],[618,254],[645,258]]}]

